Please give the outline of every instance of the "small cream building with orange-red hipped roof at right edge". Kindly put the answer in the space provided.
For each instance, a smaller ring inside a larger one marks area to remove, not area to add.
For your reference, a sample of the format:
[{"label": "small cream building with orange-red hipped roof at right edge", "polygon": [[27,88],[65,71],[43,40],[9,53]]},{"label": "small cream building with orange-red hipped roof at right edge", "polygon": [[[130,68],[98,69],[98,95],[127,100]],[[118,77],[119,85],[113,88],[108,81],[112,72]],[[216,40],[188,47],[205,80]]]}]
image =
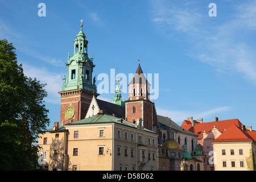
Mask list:
[{"label": "small cream building with orange-red hipped roof at right edge", "polygon": [[212,160],[216,171],[256,170],[256,131],[230,126],[212,141]]}]

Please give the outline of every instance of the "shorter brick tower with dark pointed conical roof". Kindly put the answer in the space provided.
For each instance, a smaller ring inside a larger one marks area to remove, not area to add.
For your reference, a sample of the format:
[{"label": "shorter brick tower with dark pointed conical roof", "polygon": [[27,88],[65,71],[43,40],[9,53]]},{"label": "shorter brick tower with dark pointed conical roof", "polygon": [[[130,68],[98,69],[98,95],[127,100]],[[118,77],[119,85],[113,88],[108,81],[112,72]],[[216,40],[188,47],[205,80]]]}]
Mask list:
[{"label": "shorter brick tower with dark pointed conical roof", "polygon": [[141,64],[128,86],[129,99],[125,101],[127,121],[137,123],[137,119],[142,118],[144,128],[158,132],[155,104],[150,101],[150,83],[142,72]]}]

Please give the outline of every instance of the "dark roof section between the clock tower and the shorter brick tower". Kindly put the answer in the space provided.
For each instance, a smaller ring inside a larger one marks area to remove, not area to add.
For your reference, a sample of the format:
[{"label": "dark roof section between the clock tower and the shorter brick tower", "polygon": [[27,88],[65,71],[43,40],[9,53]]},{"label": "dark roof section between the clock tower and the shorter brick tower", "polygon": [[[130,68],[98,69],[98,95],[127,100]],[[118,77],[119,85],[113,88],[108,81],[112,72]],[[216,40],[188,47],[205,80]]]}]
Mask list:
[{"label": "dark roof section between the clock tower and the shorter brick tower", "polygon": [[125,107],[98,98],[96,98],[96,101],[100,110],[105,110],[106,114],[115,114],[116,117],[125,118]]}]

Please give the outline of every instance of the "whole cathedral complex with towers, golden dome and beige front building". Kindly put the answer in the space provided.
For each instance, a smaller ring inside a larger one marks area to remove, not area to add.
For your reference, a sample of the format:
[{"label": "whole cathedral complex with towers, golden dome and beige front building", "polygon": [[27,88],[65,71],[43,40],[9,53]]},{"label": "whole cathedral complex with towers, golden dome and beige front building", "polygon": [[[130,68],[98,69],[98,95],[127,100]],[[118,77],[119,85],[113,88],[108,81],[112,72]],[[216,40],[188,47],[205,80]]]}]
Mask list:
[{"label": "whole cathedral complex with towers, golden dome and beige front building", "polygon": [[198,135],[156,113],[140,63],[128,85],[128,100],[122,100],[118,73],[114,100],[98,99],[93,56],[88,57],[81,24],[65,65],[60,122],[39,136],[41,169],[204,170]]}]

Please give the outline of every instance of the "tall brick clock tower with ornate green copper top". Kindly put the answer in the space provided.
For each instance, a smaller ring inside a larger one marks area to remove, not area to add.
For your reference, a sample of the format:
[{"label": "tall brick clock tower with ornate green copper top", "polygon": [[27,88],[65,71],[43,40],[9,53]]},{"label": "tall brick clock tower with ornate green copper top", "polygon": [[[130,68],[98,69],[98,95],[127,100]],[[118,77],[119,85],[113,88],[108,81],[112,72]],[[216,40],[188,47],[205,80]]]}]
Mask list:
[{"label": "tall brick clock tower with ornate green copper top", "polygon": [[95,65],[88,57],[88,40],[81,30],[74,40],[74,53],[68,53],[67,77],[63,77],[60,105],[60,125],[84,119],[93,96],[97,97],[96,78],[92,78]]}]

